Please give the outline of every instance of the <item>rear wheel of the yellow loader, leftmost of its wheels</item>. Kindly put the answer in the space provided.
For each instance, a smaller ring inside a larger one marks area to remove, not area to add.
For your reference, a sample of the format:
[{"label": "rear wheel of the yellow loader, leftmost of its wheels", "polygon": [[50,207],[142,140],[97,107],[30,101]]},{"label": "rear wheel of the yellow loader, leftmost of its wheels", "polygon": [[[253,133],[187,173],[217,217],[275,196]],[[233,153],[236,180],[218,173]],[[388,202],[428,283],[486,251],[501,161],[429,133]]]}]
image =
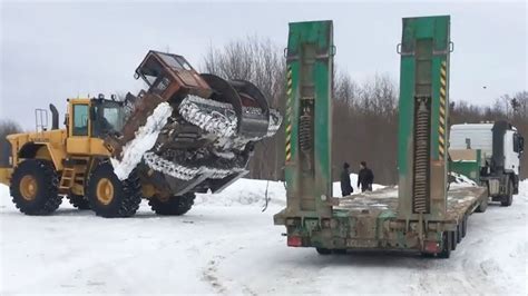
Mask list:
[{"label": "rear wheel of the yellow loader, leftmost of its wheels", "polygon": [[59,177],[50,161],[28,159],[14,168],[9,187],[14,206],[26,215],[48,215],[62,203]]}]

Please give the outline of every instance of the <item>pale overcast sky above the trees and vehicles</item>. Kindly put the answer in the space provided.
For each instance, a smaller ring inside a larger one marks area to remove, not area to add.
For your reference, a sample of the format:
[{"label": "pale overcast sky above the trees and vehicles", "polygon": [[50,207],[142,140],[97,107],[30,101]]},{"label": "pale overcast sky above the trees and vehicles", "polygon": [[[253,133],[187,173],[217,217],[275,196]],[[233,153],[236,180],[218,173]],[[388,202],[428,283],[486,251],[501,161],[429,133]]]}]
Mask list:
[{"label": "pale overcast sky above the trees and vehicles", "polygon": [[[527,4],[519,2],[1,2],[0,119],[35,128],[33,109],[68,97],[137,91],[149,49],[199,68],[209,45],[257,34],[286,46],[287,23],[334,21],[335,62],[359,81],[399,79],[401,18],[451,14],[453,100],[490,105],[527,87]],[[486,86],[486,89],[483,88]],[[62,121],[62,120],[61,120]]]}]

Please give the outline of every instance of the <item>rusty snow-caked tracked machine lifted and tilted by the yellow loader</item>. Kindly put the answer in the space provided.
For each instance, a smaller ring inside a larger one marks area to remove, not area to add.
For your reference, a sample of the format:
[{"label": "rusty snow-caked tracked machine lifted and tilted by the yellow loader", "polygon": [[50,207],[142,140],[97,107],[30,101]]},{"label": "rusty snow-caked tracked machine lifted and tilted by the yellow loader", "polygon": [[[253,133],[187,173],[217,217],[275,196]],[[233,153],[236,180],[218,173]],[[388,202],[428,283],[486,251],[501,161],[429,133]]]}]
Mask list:
[{"label": "rusty snow-caked tracked machine lifted and tilted by the yellow loader", "polygon": [[[134,101],[133,111],[121,132],[108,135],[105,144],[114,151],[113,162],[117,165],[127,155],[141,155],[139,161],[128,165],[169,176],[163,179],[173,184],[163,187],[170,187],[173,194],[182,194],[174,188],[193,191],[189,186],[199,190],[208,184],[227,186],[247,172],[254,145],[281,127],[282,116],[270,108],[255,85],[197,73],[180,56],[150,51],[136,75],[149,88],[137,97],[128,96]],[[162,103],[172,107],[170,116],[150,118]],[[156,137],[155,142],[139,152],[128,151],[129,144],[137,142],[143,127],[151,121],[164,122],[150,128],[148,137],[150,141]]]}]

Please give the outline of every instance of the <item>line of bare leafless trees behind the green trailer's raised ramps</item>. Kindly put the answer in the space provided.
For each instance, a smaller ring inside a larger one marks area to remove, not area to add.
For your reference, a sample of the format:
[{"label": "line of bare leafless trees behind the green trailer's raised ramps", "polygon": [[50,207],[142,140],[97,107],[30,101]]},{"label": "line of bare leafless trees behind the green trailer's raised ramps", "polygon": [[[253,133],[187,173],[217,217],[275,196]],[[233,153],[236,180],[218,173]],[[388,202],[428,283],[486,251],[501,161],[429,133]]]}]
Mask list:
[{"label": "line of bare leafless trees behind the green trailer's raised ramps", "polygon": [[[225,79],[245,79],[261,88],[270,105],[282,115],[285,110],[285,59],[270,39],[250,37],[222,48],[209,48],[203,71]],[[335,69],[336,67],[334,67]],[[338,180],[344,161],[358,172],[366,161],[375,182],[397,184],[398,85],[388,75],[374,75],[365,82],[354,81],[346,72],[334,70],[333,83],[333,178]],[[451,98],[449,124],[482,122],[507,119],[528,138],[528,92],[519,91],[497,98],[481,107]],[[250,162],[250,177],[283,179],[284,127],[273,138],[257,145]],[[521,161],[521,178],[528,177],[528,157]]]}]

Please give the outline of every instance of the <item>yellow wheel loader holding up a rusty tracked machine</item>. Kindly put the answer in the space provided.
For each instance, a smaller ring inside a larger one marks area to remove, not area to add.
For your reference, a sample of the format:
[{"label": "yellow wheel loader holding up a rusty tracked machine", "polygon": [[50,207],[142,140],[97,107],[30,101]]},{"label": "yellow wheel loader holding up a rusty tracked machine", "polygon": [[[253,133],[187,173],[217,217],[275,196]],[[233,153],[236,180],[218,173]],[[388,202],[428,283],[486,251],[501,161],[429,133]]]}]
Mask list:
[{"label": "yellow wheel loader holding up a rusty tracked machine", "polygon": [[75,207],[91,208],[104,217],[134,215],[148,191],[141,193],[137,174],[123,181],[115,176],[109,162],[111,154],[99,137],[100,122],[120,128],[123,105],[102,98],[69,99],[66,129],[58,128],[58,112],[51,105],[50,130],[43,128],[41,120],[35,132],[7,137],[11,154],[3,165],[11,164],[12,168],[0,168],[1,180],[10,185],[12,200],[20,211],[50,214],[65,195]]}]

